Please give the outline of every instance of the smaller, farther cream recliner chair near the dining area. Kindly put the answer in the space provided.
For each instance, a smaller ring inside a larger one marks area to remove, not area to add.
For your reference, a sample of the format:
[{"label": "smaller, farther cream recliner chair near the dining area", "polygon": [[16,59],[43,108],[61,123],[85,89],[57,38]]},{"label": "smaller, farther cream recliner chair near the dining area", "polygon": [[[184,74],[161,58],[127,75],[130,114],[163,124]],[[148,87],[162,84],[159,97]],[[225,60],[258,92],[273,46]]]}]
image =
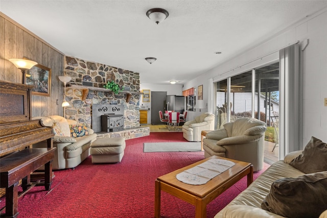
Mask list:
[{"label": "smaller, farther cream recliner chair near the dining area", "polygon": [[195,119],[185,122],[182,126],[183,137],[188,141],[201,141],[202,130],[215,129],[215,115],[203,113]]}]

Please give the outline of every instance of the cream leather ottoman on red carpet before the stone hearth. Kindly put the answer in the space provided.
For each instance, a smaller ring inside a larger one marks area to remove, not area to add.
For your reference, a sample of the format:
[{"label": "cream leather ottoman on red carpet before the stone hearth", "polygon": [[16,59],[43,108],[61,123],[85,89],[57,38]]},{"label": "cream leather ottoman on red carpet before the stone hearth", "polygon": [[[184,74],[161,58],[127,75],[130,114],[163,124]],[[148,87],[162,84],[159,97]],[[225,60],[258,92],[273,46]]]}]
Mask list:
[{"label": "cream leather ottoman on red carpet before the stone hearth", "polygon": [[92,163],[121,162],[126,147],[125,138],[99,138],[91,143]]}]

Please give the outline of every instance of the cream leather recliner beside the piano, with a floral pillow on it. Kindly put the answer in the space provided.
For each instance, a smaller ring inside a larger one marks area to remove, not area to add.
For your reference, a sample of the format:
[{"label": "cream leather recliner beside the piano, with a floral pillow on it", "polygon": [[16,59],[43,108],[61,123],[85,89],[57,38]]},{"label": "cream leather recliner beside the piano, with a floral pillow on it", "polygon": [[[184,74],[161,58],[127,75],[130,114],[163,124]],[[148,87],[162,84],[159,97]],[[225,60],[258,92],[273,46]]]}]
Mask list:
[{"label": "cream leather recliner beside the piano, with a floral pillow on it", "polygon": [[[43,125],[54,128],[53,147],[57,149],[52,162],[53,169],[74,168],[90,155],[90,144],[97,139],[97,134],[92,129],[87,128],[88,135],[73,138],[69,125],[77,124],[76,120],[58,115],[33,119],[41,119]],[[33,148],[46,148],[46,141],[33,144]]]}]

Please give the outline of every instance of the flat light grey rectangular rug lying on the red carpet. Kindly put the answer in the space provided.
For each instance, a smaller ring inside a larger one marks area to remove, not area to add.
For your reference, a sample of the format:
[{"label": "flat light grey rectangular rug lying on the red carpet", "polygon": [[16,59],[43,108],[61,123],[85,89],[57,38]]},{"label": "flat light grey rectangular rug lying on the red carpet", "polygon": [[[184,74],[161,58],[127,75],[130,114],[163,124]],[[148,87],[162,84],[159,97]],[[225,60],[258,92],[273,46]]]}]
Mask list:
[{"label": "flat light grey rectangular rug lying on the red carpet", "polygon": [[144,152],[200,152],[201,142],[150,142],[144,143]]}]

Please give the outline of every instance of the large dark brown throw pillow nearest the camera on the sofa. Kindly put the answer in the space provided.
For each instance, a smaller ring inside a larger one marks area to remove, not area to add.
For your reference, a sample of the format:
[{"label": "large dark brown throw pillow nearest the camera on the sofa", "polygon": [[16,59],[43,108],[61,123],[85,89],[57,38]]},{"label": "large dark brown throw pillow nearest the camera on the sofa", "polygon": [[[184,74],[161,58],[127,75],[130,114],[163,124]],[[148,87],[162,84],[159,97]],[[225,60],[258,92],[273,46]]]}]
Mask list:
[{"label": "large dark brown throw pillow nearest the camera on the sofa", "polygon": [[261,208],[285,217],[318,217],[327,209],[327,171],[277,179]]}]

